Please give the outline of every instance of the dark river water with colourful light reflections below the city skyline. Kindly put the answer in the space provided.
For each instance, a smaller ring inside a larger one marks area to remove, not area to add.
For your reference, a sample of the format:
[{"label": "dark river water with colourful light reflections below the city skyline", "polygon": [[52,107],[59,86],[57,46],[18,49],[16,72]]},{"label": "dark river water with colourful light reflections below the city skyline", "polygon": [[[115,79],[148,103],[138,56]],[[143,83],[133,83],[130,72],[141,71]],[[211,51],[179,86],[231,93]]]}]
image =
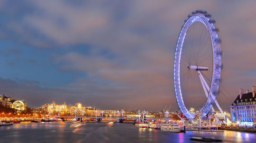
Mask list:
[{"label": "dark river water with colourful light reflections below the city skyline", "polygon": [[0,126],[0,143],[202,143],[192,136],[214,136],[223,143],[256,143],[256,134],[225,132],[170,133],[127,123],[21,123]]}]

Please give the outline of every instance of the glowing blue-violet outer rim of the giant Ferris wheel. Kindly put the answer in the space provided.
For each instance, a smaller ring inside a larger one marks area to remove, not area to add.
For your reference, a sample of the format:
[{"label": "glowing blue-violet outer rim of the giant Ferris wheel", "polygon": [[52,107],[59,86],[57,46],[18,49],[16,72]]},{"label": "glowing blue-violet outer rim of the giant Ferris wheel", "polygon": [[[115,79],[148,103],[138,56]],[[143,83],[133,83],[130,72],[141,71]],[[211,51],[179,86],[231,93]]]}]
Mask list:
[{"label": "glowing blue-violet outer rim of the giant Ferris wheel", "polygon": [[203,12],[193,12],[189,18],[185,21],[182,30],[179,34],[177,40],[177,45],[175,49],[174,56],[174,90],[176,95],[176,101],[180,110],[188,119],[195,118],[195,114],[191,113],[185,106],[183,101],[181,83],[180,83],[180,63],[181,63],[181,52],[183,48],[183,42],[186,36],[186,33],[193,23],[199,21],[207,28],[210,34],[211,48],[212,48],[212,78],[210,82],[210,91],[207,97],[207,101],[201,109],[201,118],[207,116],[213,106],[216,97],[219,92],[219,82],[221,75],[221,52],[220,52],[220,42],[217,28],[214,25],[214,20],[208,17],[209,14]]}]

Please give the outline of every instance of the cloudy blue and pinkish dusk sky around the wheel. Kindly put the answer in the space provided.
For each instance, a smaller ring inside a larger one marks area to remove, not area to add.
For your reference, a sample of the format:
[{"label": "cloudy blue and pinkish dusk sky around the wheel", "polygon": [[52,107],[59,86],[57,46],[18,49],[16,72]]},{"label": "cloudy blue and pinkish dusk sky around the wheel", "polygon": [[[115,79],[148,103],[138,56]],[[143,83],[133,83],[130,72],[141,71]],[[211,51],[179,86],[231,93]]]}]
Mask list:
[{"label": "cloudy blue and pinkish dusk sky around the wheel", "polygon": [[255,0],[0,0],[0,94],[29,107],[178,110],[173,63],[184,20],[205,9],[223,51],[217,100],[256,85]]}]

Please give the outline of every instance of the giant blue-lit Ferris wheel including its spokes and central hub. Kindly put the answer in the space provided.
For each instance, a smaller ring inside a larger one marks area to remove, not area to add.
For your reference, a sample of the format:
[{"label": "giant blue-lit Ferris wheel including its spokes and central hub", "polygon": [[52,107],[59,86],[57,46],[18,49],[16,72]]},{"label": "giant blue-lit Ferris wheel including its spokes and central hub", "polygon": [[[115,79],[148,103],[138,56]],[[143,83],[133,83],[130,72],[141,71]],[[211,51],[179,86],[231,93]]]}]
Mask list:
[{"label": "giant blue-lit Ferris wheel including its spokes and central hub", "polygon": [[200,118],[214,111],[214,104],[221,110],[216,100],[221,75],[221,50],[214,23],[215,20],[205,10],[193,11],[185,20],[177,41],[174,89],[178,106],[188,119],[194,119],[197,115],[189,111],[184,99],[201,100],[197,97],[199,94],[206,97],[200,108]]}]

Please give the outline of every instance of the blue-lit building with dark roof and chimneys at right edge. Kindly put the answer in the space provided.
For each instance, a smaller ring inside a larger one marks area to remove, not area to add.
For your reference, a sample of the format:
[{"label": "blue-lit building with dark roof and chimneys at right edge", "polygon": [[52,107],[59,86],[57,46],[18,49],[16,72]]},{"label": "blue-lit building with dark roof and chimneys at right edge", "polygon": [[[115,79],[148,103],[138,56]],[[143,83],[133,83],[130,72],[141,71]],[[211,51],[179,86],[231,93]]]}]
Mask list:
[{"label": "blue-lit building with dark roof and chimneys at right edge", "polygon": [[230,106],[230,114],[233,122],[238,122],[239,126],[255,126],[256,123],[256,86],[252,87],[252,92],[246,93],[240,89],[239,95]]}]

